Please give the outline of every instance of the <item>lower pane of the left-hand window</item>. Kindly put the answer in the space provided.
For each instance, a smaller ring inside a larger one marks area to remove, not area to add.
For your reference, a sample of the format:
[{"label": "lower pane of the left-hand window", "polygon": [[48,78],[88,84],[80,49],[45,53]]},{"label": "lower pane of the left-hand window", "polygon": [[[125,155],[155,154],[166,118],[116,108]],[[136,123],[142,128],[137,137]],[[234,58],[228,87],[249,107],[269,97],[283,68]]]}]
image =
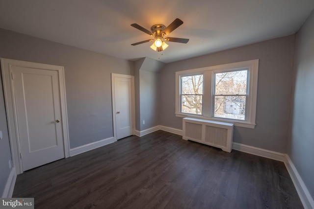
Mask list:
[{"label": "lower pane of the left-hand window", "polygon": [[182,95],[182,113],[202,115],[202,95]]}]

